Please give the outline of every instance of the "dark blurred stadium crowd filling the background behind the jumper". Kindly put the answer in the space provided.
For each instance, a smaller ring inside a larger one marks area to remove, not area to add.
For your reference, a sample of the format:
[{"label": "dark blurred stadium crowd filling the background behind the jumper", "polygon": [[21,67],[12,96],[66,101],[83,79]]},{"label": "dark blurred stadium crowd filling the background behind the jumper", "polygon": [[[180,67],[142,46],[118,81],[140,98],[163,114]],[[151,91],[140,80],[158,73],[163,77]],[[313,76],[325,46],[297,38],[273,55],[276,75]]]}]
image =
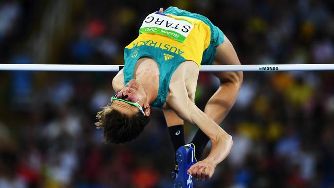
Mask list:
[{"label": "dark blurred stadium crowd filling the background behind the jumper", "polygon": [[[334,63],[330,0],[4,0],[0,60],[120,64],[143,18],[168,6],[209,17],[243,64]],[[106,145],[95,128],[115,74],[0,72],[0,187],[172,187],[160,110],[128,144]],[[200,73],[200,108],[217,82]],[[233,136],[231,154],[195,187],[334,187],[333,71],[245,72],[221,126]],[[189,141],[197,128],[185,129]]]}]

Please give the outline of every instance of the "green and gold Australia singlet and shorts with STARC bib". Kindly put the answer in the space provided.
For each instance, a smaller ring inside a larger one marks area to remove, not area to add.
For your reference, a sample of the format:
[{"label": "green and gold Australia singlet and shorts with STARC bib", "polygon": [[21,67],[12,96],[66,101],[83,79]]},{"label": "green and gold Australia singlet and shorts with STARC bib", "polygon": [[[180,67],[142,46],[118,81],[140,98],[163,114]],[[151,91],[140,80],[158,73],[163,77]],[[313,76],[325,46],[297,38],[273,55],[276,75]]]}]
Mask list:
[{"label": "green and gold Australia singlet and shorts with STARC bib", "polygon": [[146,16],[139,33],[124,49],[124,83],[133,79],[138,59],[154,59],[160,71],[158,97],[152,104],[155,107],[164,104],[172,74],[182,62],[211,65],[216,46],[224,42],[224,34],[207,17],[176,7]]}]

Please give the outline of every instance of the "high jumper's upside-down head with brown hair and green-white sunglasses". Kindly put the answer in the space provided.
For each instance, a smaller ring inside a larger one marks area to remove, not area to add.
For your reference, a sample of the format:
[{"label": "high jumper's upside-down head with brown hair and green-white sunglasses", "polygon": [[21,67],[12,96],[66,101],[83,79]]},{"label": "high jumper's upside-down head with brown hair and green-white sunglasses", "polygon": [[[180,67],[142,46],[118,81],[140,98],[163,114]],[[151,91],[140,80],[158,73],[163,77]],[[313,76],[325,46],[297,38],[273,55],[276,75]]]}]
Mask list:
[{"label": "high jumper's upside-down head with brown hair and green-white sunglasses", "polygon": [[104,129],[105,141],[124,143],[137,138],[150,121],[144,88],[131,80],[111,100],[96,116],[96,126]]}]

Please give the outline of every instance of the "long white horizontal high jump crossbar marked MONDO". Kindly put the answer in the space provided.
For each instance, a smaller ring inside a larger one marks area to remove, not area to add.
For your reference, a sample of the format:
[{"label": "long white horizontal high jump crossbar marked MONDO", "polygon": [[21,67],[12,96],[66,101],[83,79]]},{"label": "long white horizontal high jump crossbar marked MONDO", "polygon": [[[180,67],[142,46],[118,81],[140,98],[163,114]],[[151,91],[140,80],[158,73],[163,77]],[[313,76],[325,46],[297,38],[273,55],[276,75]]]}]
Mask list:
[{"label": "long white horizontal high jump crossbar marked MONDO", "polygon": [[[0,70],[117,72],[124,65],[0,64]],[[334,64],[201,65],[200,71],[316,71],[334,70]]]}]

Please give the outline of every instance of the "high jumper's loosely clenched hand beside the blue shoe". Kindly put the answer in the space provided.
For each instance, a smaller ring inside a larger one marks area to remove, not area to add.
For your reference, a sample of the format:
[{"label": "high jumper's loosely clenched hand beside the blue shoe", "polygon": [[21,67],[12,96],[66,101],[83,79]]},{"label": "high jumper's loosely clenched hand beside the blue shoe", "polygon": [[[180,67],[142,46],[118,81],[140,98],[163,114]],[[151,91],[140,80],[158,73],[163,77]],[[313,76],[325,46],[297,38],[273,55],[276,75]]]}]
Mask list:
[{"label": "high jumper's loosely clenched hand beside the blue shoe", "polygon": [[188,174],[192,175],[197,181],[209,180],[215,172],[215,164],[210,159],[204,159],[198,161],[192,165],[187,171]]}]

